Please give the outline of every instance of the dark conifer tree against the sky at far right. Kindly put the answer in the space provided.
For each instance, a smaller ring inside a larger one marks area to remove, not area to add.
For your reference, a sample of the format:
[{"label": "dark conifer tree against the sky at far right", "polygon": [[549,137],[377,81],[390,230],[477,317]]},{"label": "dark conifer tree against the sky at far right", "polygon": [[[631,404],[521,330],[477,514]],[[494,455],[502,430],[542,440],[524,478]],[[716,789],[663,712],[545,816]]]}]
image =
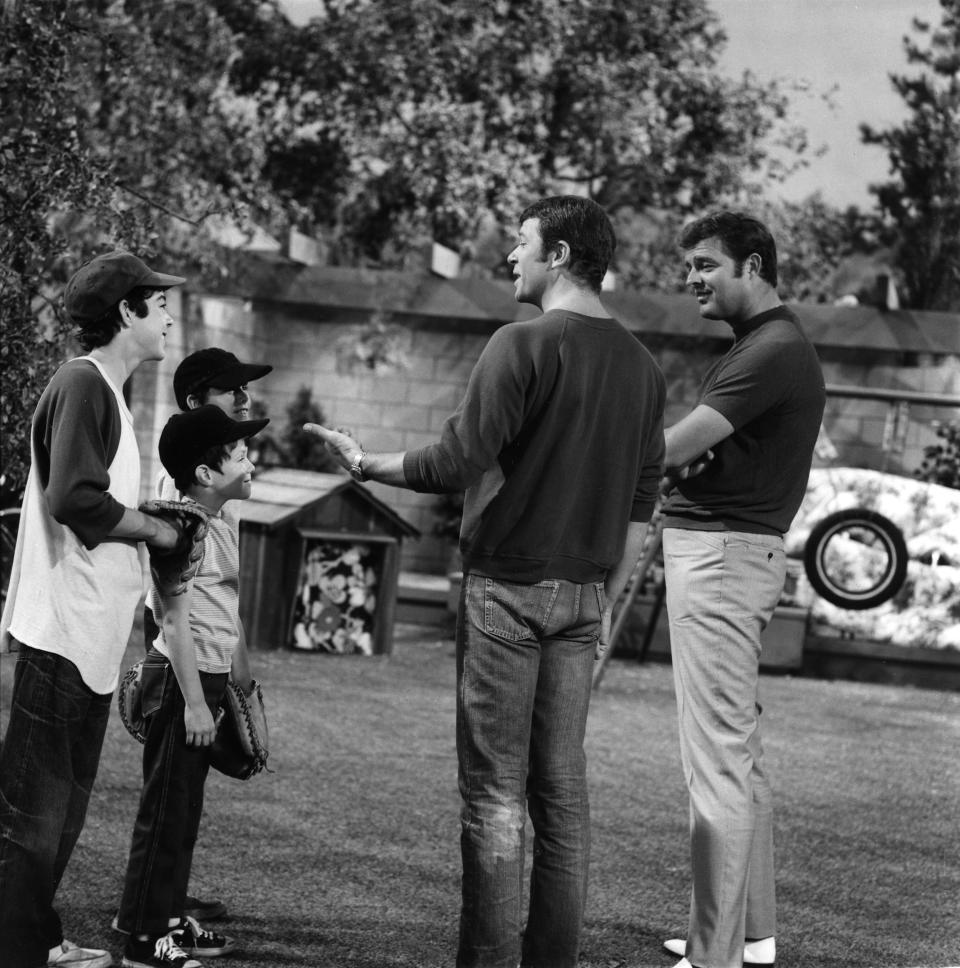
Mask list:
[{"label": "dark conifer tree against the sky at far right", "polygon": [[865,144],[881,145],[893,180],[871,186],[899,240],[905,302],[917,309],[960,309],[960,0],[940,0],[943,20],[913,29],[904,49],[916,76],[891,74],[910,116],[897,127],[861,125]]}]

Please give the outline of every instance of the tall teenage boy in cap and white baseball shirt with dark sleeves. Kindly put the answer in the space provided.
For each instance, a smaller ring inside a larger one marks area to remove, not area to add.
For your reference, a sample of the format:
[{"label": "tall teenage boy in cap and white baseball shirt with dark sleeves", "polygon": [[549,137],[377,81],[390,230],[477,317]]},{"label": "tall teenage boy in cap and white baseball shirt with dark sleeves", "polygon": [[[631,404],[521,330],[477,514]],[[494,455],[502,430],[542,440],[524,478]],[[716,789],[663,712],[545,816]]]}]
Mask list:
[{"label": "tall teenage boy in cap and white baseball shirt with dark sleeves", "polygon": [[57,885],[83,828],[120,661],[143,591],[141,541],[176,529],[137,510],[140,452],[127,377],[163,359],[166,291],[186,280],[130,252],[98,256],[67,283],[86,355],[40,397],[0,651],[19,643],[0,748],[0,960],[6,968],[105,968],[110,954],[63,936]]}]

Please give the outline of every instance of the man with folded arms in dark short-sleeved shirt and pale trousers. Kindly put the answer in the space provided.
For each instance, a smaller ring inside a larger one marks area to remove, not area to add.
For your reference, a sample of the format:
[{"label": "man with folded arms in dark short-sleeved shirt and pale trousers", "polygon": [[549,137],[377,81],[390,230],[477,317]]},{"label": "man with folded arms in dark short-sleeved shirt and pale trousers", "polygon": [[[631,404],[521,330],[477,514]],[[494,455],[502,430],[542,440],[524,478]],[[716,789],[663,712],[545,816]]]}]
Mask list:
[{"label": "man with folded arms in dark short-sleeved shirt and pale trousers", "polygon": [[678,968],[775,957],[773,813],[757,704],[760,634],[783,589],[783,534],[803,500],[823,416],[816,352],[777,295],[756,219],[708,215],[680,237],[700,315],[733,329],[693,411],[666,431],[667,610],[693,895]]}]

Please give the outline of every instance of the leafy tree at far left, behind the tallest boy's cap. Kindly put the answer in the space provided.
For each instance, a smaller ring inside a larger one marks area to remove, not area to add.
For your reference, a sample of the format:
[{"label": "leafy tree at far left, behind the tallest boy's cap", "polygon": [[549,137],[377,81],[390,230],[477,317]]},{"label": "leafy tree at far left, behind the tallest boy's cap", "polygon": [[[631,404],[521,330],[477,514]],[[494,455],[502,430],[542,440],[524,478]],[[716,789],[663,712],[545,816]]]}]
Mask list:
[{"label": "leafy tree at far left, behind the tallest boy's cap", "polygon": [[[242,3],[243,0],[235,0]],[[196,275],[211,216],[276,210],[256,112],[228,84],[237,42],[190,0],[7,0],[0,20],[0,318],[5,499],[29,415],[70,355],[59,294],[98,251]]]}]

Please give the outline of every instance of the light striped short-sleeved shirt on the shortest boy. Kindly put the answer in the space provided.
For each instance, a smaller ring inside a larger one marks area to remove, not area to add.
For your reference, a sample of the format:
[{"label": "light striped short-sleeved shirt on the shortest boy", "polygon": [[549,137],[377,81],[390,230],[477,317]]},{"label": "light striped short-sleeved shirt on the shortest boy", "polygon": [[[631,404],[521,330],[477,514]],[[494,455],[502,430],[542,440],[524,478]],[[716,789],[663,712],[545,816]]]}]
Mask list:
[{"label": "light striped short-sleeved shirt on the shortest boy", "polygon": [[[190,499],[184,501],[189,503]],[[203,560],[193,579],[189,621],[200,672],[230,671],[233,653],[240,641],[239,587],[240,545],[236,531],[221,512],[210,517]],[[147,593],[147,605],[160,626],[154,648],[169,658],[169,647],[163,636],[163,600],[155,585]]]}]

